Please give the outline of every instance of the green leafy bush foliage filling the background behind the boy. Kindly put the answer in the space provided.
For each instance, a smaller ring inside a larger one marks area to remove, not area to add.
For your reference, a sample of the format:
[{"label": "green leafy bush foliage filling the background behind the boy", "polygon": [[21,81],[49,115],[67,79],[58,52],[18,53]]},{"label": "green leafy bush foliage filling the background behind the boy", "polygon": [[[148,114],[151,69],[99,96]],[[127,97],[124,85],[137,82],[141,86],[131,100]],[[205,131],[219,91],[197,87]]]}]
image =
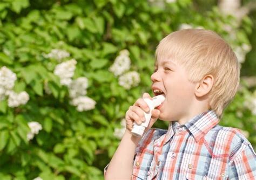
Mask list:
[{"label": "green leafy bush foliage filling the background behind the boy", "polygon": [[[103,179],[120,141],[114,129],[122,128],[126,110],[144,92],[152,95],[150,75],[159,40],[182,24],[214,30],[234,48],[251,44],[240,90],[221,124],[244,130],[255,148],[256,117],[244,102],[256,96],[255,84],[248,81],[256,75],[256,12],[252,9],[236,26],[217,5],[199,0],[1,1],[0,67],[17,74],[14,89],[28,92],[30,100],[17,108],[0,101],[0,179]],[[233,27],[235,39],[224,25]],[[95,109],[78,112],[70,105],[68,89],[53,74],[59,62],[42,55],[52,49],[68,51],[77,60],[73,79],[89,79],[87,95],[97,102]],[[130,52],[131,70],[141,78],[130,90],[108,70],[124,49]],[[30,121],[43,126],[32,141],[26,139]],[[167,123],[158,121],[154,127],[167,128]]]}]

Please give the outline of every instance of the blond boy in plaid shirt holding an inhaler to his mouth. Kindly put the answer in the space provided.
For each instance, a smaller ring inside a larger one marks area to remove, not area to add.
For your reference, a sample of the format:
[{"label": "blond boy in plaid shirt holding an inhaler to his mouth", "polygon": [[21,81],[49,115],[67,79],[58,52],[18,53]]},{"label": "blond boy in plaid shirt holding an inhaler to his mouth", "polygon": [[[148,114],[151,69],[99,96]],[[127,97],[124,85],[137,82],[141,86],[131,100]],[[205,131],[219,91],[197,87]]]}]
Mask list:
[{"label": "blond boy in plaid shirt holding an inhaler to his mouth", "polygon": [[[142,139],[131,134],[132,123],[144,121],[149,109],[143,99],[130,106],[105,179],[256,179],[251,143],[238,129],[218,125],[239,76],[234,52],[213,31],[186,29],[162,39],[151,80],[165,101]],[[157,119],[170,121],[168,130],[150,129]]]}]

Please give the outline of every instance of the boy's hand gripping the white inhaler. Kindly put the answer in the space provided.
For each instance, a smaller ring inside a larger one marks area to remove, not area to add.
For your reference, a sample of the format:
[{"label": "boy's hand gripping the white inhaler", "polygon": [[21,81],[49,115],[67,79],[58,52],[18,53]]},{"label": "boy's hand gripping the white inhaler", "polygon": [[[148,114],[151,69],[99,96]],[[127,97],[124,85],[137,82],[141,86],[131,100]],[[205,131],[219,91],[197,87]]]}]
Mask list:
[{"label": "boy's hand gripping the white inhaler", "polygon": [[[132,124],[135,121],[137,124],[141,124],[145,121],[144,112],[149,112],[150,108],[147,106],[146,101],[144,101],[144,98],[152,99],[151,96],[148,93],[143,94],[143,99],[139,98],[133,106],[130,106],[125,114],[125,120],[126,120],[126,129],[129,130],[131,133],[132,130]],[[158,117],[160,115],[160,110],[153,109],[152,110],[152,116],[149,123],[149,126],[145,129],[144,133],[149,130],[154,122],[157,121]]]}]

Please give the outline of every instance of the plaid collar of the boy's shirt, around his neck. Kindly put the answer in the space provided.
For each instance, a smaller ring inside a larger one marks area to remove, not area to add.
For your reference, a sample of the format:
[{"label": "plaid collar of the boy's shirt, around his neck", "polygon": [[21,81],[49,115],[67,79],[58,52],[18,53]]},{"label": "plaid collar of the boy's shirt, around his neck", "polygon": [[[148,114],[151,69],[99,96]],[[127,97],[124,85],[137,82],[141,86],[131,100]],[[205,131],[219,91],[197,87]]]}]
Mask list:
[{"label": "plaid collar of the boy's shirt, around his neck", "polygon": [[[190,121],[186,122],[184,126],[193,135],[196,142],[198,142],[210,129],[219,123],[218,115],[214,110],[207,110],[201,114],[194,116]],[[175,134],[177,127],[180,124],[177,121],[172,121],[169,124],[164,144],[168,142]]]}]

